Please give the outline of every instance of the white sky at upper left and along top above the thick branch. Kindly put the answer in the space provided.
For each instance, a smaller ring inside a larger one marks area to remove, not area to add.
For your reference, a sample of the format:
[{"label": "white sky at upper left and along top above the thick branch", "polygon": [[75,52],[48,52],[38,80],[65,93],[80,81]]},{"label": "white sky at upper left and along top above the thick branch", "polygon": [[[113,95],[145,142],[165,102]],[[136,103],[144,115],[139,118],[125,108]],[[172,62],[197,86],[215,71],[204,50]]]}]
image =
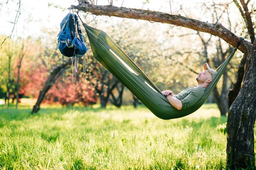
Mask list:
[{"label": "white sky at upper left and along top above the thick branch", "polygon": [[[198,0],[198,2],[204,0]],[[6,3],[8,2],[8,3]],[[13,28],[13,22],[16,16],[18,0],[0,0],[0,23],[2,24],[0,34],[10,35]],[[113,5],[117,7],[150,9],[170,13],[169,0],[149,0],[150,3],[144,4],[146,0],[114,0]],[[181,3],[188,5],[190,1],[183,0]],[[48,4],[53,3],[49,7]],[[108,5],[108,0],[97,0],[99,5]],[[27,36],[33,37],[42,36],[43,29],[58,29],[61,20],[67,15],[69,10],[63,11],[63,8],[70,7],[71,4],[77,5],[77,0],[21,0],[20,18],[17,26],[14,29],[13,36]],[[175,13],[179,8],[179,4],[172,2],[172,12]],[[200,14],[199,14],[200,15]]]}]

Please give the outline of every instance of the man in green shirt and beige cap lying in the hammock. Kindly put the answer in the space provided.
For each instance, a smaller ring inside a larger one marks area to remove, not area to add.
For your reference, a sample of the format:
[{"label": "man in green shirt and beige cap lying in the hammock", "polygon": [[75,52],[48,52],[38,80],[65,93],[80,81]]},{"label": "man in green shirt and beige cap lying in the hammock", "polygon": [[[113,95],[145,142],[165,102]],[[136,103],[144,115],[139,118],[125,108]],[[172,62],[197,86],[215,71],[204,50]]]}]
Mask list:
[{"label": "man in green shirt and beige cap lying in the hammock", "polygon": [[217,75],[217,71],[211,69],[207,63],[204,64],[204,72],[196,77],[197,86],[191,86],[181,93],[174,95],[172,91],[162,91],[170,104],[178,110],[184,110],[193,106],[204,94],[205,89]]}]

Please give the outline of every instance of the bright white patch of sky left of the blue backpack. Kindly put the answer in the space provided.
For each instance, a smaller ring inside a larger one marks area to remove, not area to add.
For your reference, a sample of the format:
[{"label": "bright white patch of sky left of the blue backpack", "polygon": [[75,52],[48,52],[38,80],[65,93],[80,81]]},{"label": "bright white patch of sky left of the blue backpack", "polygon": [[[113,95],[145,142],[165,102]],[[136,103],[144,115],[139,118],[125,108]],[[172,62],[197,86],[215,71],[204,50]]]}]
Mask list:
[{"label": "bright white patch of sky left of the blue backpack", "polygon": [[[13,22],[18,9],[18,0],[0,0],[2,7],[0,9],[0,23],[3,24],[0,29],[0,34],[11,34]],[[52,0],[54,4],[68,8],[71,4],[77,4],[76,0]],[[44,27],[56,28],[61,20],[69,12],[62,11],[53,6],[48,5],[47,0],[21,0],[20,18],[18,20],[14,34],[22,35],[38,35]]]}]

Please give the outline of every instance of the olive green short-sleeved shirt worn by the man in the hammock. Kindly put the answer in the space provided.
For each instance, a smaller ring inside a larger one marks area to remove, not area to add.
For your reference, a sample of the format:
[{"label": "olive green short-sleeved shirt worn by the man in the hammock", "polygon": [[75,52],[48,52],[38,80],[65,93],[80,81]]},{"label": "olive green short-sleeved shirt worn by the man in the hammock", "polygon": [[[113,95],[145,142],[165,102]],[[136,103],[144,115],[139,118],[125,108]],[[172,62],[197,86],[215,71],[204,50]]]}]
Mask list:
[{"label": "olive green short-sleeved shirt worn by the man in the hammock", "polygon": [[174,97],[176,97],[182,102],[181,110],[184,110],[198,102],[198,100],[204,94],[205,89],[206,88],[204,87],[191,86],[185,89],[184,91],[180,92],[179,94],[174,95]]}]

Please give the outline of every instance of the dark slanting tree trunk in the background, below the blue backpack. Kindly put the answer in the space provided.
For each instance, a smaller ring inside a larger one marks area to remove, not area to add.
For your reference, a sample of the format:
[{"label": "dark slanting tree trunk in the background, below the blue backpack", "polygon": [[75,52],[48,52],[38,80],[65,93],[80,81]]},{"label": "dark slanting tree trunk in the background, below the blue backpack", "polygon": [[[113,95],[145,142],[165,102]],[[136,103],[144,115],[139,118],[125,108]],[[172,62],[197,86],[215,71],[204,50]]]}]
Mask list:
[{"label": "dark slanting tree trunk in the background, below the blue backpack", "polygon": [[48,76],[45,82],[45,85],[43,86],[43,89],[39,92],[38,99],[36,101],[36,104],[33,107],[31,114],[37,113],[38,110],[40,110],[40,104],[43,101],[45,94],[47,93],[47,91],[49,91],[49,89],[52,87],[56,79],[62,74],[62,72],[65,71],[66,66],[68,65],[69,65],[69,62],[65,62],[60,66],[54,68],[54,70],[50,73],[50,75]]}]

